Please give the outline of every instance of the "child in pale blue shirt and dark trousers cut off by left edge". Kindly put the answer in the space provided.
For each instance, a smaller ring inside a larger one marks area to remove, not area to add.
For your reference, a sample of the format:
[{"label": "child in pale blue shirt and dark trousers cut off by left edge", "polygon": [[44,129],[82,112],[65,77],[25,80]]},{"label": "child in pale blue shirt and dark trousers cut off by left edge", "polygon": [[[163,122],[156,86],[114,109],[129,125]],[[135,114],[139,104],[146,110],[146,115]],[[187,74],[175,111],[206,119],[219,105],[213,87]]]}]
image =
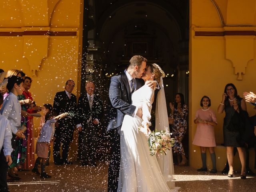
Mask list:
[{"label": "child in pale blue shirt and dark trousers cut off by left edge", "polygon": [[0,115],[0,191],[8,192],[7,170],[12,163],[12,132],[9,121]]}]

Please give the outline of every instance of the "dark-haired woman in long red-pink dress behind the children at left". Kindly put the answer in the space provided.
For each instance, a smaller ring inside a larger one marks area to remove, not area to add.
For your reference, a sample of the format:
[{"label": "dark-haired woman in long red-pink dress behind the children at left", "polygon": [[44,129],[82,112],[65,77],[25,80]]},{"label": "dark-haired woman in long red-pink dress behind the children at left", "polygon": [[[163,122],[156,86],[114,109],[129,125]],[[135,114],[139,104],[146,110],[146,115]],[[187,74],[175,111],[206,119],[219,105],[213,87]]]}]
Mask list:
[{"label": "dark-haired woman in long red-pink dress behind the children at left", "polygon": [[[31,78],[25,77],[24,79],[24,91],[23,95],[26,99],[30,99],[33,101],[33,98],[31,96],[31,93],[28,91],[31,87]],[[42,109],[34,104],[32,102],[32,105],[26,105],[26,111],[31,113],[36,113],[38,111],[41,111]],[[33,117],[28,116],[27,117],[27,156],[26,156],[26,162],[23,164],[23,169],[32,169],[34,167],[34,161],[35,161],[35,148],[34,148],[34,122]]]}]

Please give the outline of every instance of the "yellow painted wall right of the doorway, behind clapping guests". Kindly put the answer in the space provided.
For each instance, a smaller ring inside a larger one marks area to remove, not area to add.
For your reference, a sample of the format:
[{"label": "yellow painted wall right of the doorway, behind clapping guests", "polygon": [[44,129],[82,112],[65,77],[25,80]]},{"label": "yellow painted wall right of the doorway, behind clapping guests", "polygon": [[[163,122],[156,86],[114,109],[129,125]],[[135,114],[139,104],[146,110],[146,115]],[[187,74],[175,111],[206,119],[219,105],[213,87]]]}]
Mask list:
[{"label": "yellow painted wall right of the doorway, behind clapping guests", "polygon": [[[254,23],[255,0],[241,2],[239,0],[215,1],[228,24]],[[236,4],[237,3],[237,4]],[[243,5],[242,5],[242,4]],[[239,9],[239,12],[237,10]],[[246,13],[246,14],[244,14]],[[237,19],[239,18],[239,19]],[[222,93],[227,83],[234,83],[238,94],[244,91],[256,92],[255,68],[256,53],[255,36],[195,36],[195,31],[225,31],[225,30],[256,30],[245,26],[223,27],[217,10],[210,0],[190,0],[190,95],[189,95],[189,155],[190,165],[194,168],[201,166],[200,147],[192,145],[196,125],[194,116],[200,108],[200,99],[207,95],[211,98],[210,107],[216,113],[218,125],[215,127],[215,137],[218,144],[223,143],[223,114],[217,113],[222,99]],[[236,68],[234,68],[236,66]],[[244,68],[244,66],[246,68]],[[238,80],[235,71],[244,70],[242,80]],[[247,104],[249,115],[254,115],[253,106]],[[216,147],[217,169],[222,170],[226,163],[226,148]],[[250,168],[254,168],[254,152],[250,150]],[[207,156],[208,168],[212,168],[210,155]],[[235,157],[235,170],[240,171],[238,154]]]}]

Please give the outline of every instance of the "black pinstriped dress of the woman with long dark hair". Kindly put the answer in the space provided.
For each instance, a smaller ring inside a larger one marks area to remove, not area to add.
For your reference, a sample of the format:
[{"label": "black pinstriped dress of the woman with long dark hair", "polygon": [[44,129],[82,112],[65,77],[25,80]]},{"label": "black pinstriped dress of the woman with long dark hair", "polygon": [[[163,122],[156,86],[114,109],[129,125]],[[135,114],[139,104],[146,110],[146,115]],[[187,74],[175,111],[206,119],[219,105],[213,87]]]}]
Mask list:
[{"label": "black pinstriped dress of the woman with long dark hair", "polygon": [[[242,98],[237,98],[237,104],[239,108],[241,108],[241,100]],[[235,114],[234,107],[230,105],[230,102],[225,100],[224,102],[224,110],[225,110],[225,117],[224,117],[224,123],[223,123],[223,137],[224,137],[224,146],[226,147],[243,147],[241,144],[237,142],[237,138],[240,136],[239,131],[230,131],[227,129],[227,126],[232,118],[232,116]]]}]

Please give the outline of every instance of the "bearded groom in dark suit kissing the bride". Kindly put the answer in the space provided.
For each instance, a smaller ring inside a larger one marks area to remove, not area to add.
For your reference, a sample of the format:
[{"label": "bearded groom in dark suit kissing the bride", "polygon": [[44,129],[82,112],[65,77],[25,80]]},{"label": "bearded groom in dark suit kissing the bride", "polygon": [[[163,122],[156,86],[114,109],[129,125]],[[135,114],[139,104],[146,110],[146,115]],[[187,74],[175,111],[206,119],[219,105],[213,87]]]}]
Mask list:
[{"label": "bearded groom in dark suit kissing the bride", "polygon": [[[120,168],[120,130],[124,115],[139,116],[142,118],[142,110],[133,106],[131,94],[141,88],[145,83],[141,79],[146,69],[147,59],[135,55],[130,59],[127,70],[113,76],[110,81],[109,98],[114,107],[114,115],[108,124],[111,136],[111,157],[108,168],[108,192],[116,192]],[[152,86],[155,82],[150,82]]]}]

